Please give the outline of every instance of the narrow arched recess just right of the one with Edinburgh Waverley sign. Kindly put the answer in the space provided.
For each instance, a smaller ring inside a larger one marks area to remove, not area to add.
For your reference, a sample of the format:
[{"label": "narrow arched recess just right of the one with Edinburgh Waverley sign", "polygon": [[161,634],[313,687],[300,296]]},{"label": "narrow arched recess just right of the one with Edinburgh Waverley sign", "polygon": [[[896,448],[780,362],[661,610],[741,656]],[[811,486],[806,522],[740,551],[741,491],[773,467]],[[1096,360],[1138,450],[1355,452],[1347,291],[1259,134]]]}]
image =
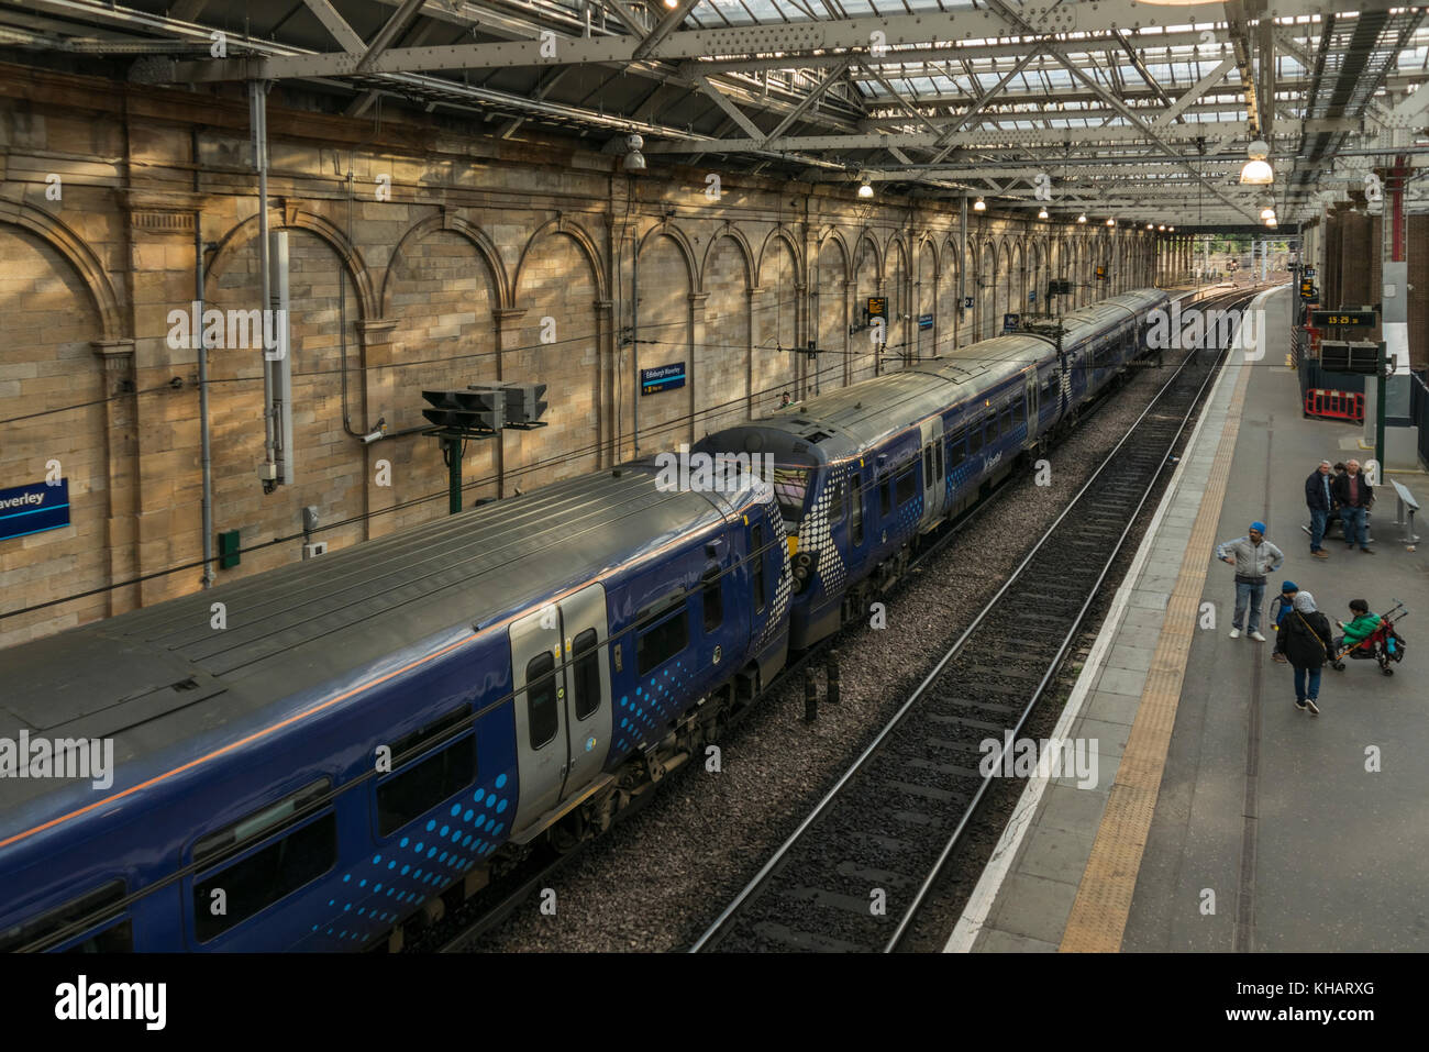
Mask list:
[{"label": "narrow arched recess just right of the one with Edinburgh Waverley sign", "polygon": [[770,406],[767,399],[756,403],[749,397],[755,254],[737,227],[726,226],[710,239],[700,274],[709,296],[704,337],[694,346],[696,436],[759,416]]}]

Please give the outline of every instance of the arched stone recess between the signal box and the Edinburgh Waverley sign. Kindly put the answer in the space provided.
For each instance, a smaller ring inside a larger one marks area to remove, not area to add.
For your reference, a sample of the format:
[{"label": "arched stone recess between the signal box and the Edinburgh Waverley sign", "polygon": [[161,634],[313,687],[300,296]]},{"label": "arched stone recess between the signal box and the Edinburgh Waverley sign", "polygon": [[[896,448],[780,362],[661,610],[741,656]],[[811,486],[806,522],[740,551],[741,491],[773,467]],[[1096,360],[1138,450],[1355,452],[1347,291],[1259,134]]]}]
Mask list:
[{"label": "arched stone recess between the signal box and the Edinburgh Waverley sign", "polygon": [[[602,383],[600,343],[607,300],[600,260],[592,252],[590,239],[577,224],[546,223],[522,249],[512,307],[497,312],[494,319],[502,346],[500,379],[504,383],[544,383],[549,403],[546,427],[507,430],[487,443],[500,443],[493,452],[502,457],[506,495],[516,489],[529,493],[600,465],[606,416],[602,399],[610,387]],[[640,294],[646,302],[643,254],[640,267]],[[687,273],[686,267],[676,270],[686,289]],[[644,337],[643,307],[640,324]],[[687,334],[672,339],[687,342]],[[617,379],[616,386],[623,392],[629,413],[633,382]],[[622,429],[622,433],[629,435],[629,430]]]}]

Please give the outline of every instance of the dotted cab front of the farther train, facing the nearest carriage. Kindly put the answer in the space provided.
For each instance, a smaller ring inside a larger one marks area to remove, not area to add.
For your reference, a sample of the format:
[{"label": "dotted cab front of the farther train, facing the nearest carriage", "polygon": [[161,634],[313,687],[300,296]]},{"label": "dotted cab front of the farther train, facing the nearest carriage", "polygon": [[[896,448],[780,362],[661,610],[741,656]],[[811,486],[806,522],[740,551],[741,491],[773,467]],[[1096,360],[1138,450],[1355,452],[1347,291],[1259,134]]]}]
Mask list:
[{"label": "dotted cab front of the farther train, facing the nearest carriage", "polygon": [[[696,443],[694,452],[740,457],[742,463],[747,456],[749,470],[775,489],[792,572],[790,649],[807,647],[836,632],[843,596],[829,587],[829,567],[842,562],[830,535],[822,450],[777,426],[752,423],[710,435]],[[833,576],[840,589],[842,579]]]}]

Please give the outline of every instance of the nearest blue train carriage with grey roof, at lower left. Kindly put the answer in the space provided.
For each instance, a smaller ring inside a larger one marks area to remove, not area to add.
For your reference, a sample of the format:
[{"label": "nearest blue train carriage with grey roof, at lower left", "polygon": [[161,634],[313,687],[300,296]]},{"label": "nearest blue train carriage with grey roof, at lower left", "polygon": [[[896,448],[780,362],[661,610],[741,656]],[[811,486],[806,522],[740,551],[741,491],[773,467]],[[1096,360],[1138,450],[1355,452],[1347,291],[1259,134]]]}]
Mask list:
[{"label": "nearest blue train carriage with grey roof, at lower left", "polygon": [[[569,846],[783,663],[766,483],[626,467],[0,652],[0,948],[370,945]],[[220,606],[221,605],[221,606]]]}]

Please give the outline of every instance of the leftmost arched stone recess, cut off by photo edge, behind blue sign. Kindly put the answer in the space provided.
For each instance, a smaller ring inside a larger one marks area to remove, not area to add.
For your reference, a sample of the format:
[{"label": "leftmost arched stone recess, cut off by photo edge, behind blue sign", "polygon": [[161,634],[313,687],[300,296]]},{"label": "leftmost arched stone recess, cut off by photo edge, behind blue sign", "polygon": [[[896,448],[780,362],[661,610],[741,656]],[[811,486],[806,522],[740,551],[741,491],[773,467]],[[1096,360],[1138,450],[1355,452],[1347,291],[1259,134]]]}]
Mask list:
[{"label": "leftmost arched stone recess, cut off by photo edge, behind blue sign", "polygon": [[[101,403],[120,377],[107,382],[96,344],[111,342],[120,329],[113,289],[89,246],[49,213],[6,200],[0,202],[0,419],[9,420],[0,439],[0,477],[6,479],[0,485],[43,482],[57,460],[70,497],[69,526],[0,542],[0,593],[13,609],[26,605],[27,589],[39,596],[37,585],[71,595],[133,576],[134,563],[123,557],[134,555],[131,542],[124,540],[127,547],[116,560],[106,549],[120,543],[110,536],[110,516],[133,512],[137,445],[134,400]],[[121,376],[131,374],[126,359]],[[46,415],[13,419],[33,413]],[[0,647],[111,612],[110,596],[101,593],[6,617]]]}]

